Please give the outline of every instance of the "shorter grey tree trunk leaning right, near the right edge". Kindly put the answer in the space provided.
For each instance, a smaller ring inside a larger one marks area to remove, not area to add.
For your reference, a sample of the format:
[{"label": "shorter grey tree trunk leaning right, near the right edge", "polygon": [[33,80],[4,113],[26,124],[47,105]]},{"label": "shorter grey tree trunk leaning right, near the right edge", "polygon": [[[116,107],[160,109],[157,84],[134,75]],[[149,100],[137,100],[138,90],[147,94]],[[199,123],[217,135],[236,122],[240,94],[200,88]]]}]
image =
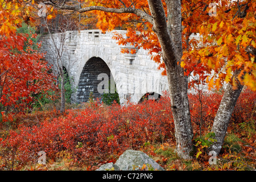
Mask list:
[{"label": "shorter grey tree trunk leaning right, near the right edge", "polygon": [[[236,71],[233,77],[236,77],[238,73],[239,71]],[[215,133],[214,139],[217,141],[210,146],[210,150],[215,151],[217,155],[220,154],[230,118],[242,89],[243,85],[241,85],[239,81],[237,81],[236,89],[233,89],[232,84],[229,83],[221,99],[212,127],[212,132]]]}]

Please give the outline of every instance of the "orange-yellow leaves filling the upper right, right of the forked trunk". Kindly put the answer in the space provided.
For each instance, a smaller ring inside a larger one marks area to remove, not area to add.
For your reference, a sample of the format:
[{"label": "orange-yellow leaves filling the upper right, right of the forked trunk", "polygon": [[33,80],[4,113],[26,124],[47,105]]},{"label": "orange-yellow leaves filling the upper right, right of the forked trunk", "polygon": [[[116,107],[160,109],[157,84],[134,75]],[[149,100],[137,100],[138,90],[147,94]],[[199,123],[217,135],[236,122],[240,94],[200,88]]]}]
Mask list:
[{"label": "orange-yellow leaves filling the upper right, right of the forked trunk", "polygon": [[[255,91],[255,55],[247,51],[256,48],[255,5],[253,1],[221,1],[216,3],[216,16],[207,14],[208,7],[205,13],[197,13],[197,22],[183,21],[184,35],[200,34],[200,40],[184,44],[182,66],[186,73],[198,74],[209,88],[219,89],[224,82],[236,87],[232,76],[238,70],[238,80]],[[196,11],[190,14],[194,15]]]}]

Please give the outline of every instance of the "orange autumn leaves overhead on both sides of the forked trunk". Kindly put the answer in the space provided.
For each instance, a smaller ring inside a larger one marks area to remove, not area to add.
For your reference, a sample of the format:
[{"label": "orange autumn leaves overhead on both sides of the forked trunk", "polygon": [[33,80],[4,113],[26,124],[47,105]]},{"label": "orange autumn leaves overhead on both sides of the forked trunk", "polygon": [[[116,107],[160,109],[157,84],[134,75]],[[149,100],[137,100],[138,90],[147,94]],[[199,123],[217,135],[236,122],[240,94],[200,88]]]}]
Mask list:
[{"label": "orange autumn leaves overhead on both sides of the forked trunk", "polygon": [[[90,5],[134,7],[150,14],[147,1],[132,2],[98,0],[90,2]],[[182,3],[183,57],[178,64],[184,68],[185,74],[197,75],[201,83],[208,84],[209,89],[220,89],[224,82],[231,82],[236,87],[239,80],[255,91],[255,55],[247,51],[248,48],[256,47],[255,2],[187,0]],[[213,6],[216,16],[209,14]],[[165,68],[152,24],[133,14],[96,13],[99,17],[97,26],[101,30],[114,30],[117,27],[127,30],[125,36],[115,35],[114,39],[122,45],[131,44],[136,48],[148,49],[151,59],[159,63],[159,69]],[[195,34],[200,39],[191,39],[191,35]],[[135,53],[135,49],[123,49],[122,52]],[[236,70],[240,71],[237,79],[233,78]],[[162,75],[166,75],[165,70]]]}]

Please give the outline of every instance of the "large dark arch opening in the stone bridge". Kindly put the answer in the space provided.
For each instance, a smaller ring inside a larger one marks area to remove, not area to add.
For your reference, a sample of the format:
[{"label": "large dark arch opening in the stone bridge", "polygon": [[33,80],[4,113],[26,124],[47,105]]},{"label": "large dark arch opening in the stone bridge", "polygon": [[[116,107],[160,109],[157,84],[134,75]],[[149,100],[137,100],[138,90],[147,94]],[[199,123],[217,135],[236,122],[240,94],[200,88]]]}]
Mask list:
[{"label": "large dark arch opening in the stone bridge", "polygon": [[113,90],[110,88],[114,88],[115,93],[115,83],[108,65],[100,57],[90,58],[79,78],[77,102],[88,102],[92,96],[94,100],[98,98],[102,101],[103,94]]}]

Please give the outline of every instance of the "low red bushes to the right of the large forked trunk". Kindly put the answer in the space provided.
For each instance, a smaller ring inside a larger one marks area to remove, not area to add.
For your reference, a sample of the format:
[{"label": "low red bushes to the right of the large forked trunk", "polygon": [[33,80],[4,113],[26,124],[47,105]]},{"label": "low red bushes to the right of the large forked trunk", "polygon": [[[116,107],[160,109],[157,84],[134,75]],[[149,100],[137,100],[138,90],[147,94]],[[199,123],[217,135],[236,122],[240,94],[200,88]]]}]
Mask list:
[{"label": "low red bushes to the right of the large forked trunk", "polygon": [[[199,94],[189,94],[189,106],[191,111],[191,121],[193,124],[194,133],[200,133],[200,125],[204,133],[208,133],[212,128],[214,118],[220,105],[222,94],[218,93],[201,93],[199,101]],[[242,123],[250,119],[256,119],[256,93],[249,89],[244,89],[237,100],[234,108],[232,118],[230,119],[230,126],[233,123]],[[200,108],[201,106],[201,108]]]}]

